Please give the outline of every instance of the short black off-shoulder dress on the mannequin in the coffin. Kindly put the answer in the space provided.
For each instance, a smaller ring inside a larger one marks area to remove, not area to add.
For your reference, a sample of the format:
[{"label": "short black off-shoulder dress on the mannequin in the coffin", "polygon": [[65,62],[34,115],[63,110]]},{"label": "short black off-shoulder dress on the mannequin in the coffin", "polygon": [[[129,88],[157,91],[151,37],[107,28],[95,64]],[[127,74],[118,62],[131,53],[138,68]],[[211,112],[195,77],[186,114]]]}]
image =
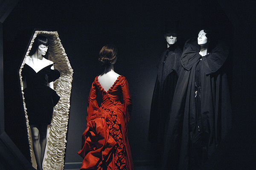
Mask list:
[{"label": "short black off-shoulder dress on the mannequin in the coffin", "polygon": [[22,80],[26,81],[23,92],[30,125],[51,124],[53,107],[60,99],[55,90],[48,86],[48,83],[60,77],[58,70],[51,69],[52,65],[35,72],[25,63],[22,69]]}]

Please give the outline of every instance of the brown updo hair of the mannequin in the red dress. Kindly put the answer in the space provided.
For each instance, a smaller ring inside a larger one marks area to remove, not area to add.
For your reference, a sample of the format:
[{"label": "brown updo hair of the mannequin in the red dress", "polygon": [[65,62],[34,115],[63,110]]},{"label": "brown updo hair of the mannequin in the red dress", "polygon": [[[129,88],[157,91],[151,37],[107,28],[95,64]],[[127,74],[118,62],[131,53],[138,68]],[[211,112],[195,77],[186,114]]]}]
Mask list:
[{"label": "brown updo hair of the mannequin in the red dress", "polygon": [[99,51],[99,63],[101,63],[102,66],[107,67],[116,59],[116,56],[116,46],[113,44],[105,45]]}]

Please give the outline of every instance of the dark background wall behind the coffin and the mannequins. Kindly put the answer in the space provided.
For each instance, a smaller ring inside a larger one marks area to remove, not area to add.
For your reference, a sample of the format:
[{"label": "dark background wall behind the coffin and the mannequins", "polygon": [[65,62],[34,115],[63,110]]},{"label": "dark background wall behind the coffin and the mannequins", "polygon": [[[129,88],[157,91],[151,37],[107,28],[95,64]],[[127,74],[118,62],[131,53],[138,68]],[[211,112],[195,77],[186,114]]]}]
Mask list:
[{"label": "dark background wall behind the coffin and the mannequins", "polygon": [[[133,111],[128,138],[132,156],[135,164],[149,162],[153,157],[147,135],[156,63],[166,48],[161,31],[164,20],[178,19],[181,46],[190,37],[196,37],[202,27],[213,29],[218,37],[227,40],[233,131],[226,143],[239,140],[237,134],[246,135],[253,142],[255,138],[250,135],[255,132],[255,1],[204,1],[20,0],[3,23],[6,133],[30,159],[17,72],[34,29],[58,31],[74,69],[66,162],[82,161],[76,152],[81,148],[81,134],[86,127],[87,98],[95,76],[103,71],[97,63],[98,52],[108,43],[119,50],[115,71],[124,75],[130,85]],[[255,146],[238,147],[237,152],[247,153],[249,148]],[[227,159],[232,159],[232,155]]]}]

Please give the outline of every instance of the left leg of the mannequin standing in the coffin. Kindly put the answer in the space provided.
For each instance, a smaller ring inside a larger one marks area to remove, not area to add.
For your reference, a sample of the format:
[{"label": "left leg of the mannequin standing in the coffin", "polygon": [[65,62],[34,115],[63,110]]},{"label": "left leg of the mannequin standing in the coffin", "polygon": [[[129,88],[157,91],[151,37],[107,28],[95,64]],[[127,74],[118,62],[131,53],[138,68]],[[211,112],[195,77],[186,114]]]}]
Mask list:
[{"label": "left leg of the mannequin standing in the coffin", "polygon": [[40,133],[37,127],[31,126],[33,150],[35,154],[35,160],[37,163],[37,169],[43,170],[41,162],[41,145],[40,145]]}]

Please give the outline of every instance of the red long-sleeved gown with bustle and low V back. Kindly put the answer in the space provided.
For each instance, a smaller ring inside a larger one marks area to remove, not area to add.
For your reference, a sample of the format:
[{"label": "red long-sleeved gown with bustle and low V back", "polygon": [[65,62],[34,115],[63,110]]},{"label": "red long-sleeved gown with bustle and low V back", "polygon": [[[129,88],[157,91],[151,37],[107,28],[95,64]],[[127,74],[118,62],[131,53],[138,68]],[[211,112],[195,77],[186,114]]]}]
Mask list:
[{"label": "red long-sleeved gown with bustle and low V back", "polygon": [[[99,107],[96,97],[102,96]],[[106,92],[98,81],[93,81],[87,107],[87,128],[83,133],[84,158],[81,170],[134,170],[128,142],[128,121],[131,95],[128,81],[120,75]]]}]

